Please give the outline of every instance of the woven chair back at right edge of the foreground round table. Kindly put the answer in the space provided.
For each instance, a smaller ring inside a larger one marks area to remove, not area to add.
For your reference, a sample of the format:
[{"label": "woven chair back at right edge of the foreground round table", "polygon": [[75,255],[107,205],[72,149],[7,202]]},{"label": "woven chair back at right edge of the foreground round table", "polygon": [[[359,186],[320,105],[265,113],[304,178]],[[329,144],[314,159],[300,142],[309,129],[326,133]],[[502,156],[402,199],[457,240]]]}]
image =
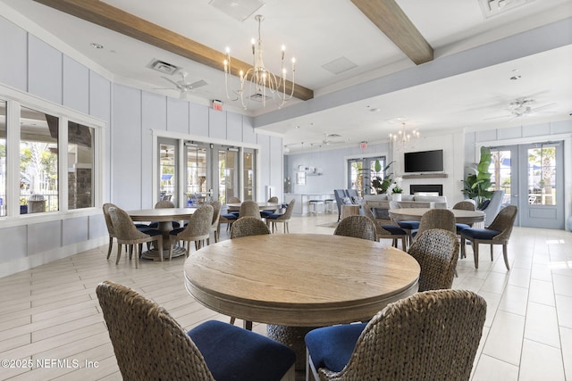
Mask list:
[{"label": "woven chair back at right edge of the foreground round table", "polygon": [[458,260],[457,235],[448,230],[429,229],[416,237],[408,253],[419,262],[419,291],[450,288]]}]

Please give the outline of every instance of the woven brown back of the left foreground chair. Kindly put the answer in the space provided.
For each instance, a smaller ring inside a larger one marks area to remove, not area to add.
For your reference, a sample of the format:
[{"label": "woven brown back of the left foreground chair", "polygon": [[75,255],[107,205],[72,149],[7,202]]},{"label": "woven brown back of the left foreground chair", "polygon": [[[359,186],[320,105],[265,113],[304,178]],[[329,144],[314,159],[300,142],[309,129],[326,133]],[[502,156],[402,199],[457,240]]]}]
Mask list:
[{"label": "woven brown back of the left foreground chair", "polygon": [[156,302],[109,281],[96,294],[123,379],[214,381],[189,335]]}]

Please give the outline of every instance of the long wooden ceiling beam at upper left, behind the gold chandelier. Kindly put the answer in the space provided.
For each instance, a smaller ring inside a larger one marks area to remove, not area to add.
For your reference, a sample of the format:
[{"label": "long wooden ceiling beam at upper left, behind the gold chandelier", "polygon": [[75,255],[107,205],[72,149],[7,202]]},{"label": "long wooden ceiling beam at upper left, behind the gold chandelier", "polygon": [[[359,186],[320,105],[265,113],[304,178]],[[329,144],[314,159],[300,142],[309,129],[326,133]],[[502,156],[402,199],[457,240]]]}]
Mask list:
[{"label": "long wooden ceiling beam at upper left, behind the gold chandelier", "polygon": [[[101,27],[112,29],[125,36],[138,39],[168,52],[179,54],[208,67],[224,70],[223,62],[226,54],[99,0],[34,1]],[[231,74],[238,77],[240,70],[247,72],[251,67],[252,65],[249,63],[232,59]],[[286,81],[286,94],[290,93],[292,87],[294,87],[294,96],[296,98],[307,101],[314,97],[313,90],[298,84],[294,86],[290,81]]]}]

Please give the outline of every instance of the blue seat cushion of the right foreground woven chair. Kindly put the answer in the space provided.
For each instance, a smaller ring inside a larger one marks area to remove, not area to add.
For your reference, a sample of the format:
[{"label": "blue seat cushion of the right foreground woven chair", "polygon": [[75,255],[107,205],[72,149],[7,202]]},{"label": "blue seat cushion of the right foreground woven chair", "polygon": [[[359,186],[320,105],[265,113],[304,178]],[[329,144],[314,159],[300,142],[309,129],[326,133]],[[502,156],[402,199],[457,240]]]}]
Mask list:
[{"label": "blue seat cushion of the right foreground woven chair", "polygon": [[304,341],[315,369],[327,368],[339,372],[349,361],[357,338],[366,323],[316,328],[307,333]]}]

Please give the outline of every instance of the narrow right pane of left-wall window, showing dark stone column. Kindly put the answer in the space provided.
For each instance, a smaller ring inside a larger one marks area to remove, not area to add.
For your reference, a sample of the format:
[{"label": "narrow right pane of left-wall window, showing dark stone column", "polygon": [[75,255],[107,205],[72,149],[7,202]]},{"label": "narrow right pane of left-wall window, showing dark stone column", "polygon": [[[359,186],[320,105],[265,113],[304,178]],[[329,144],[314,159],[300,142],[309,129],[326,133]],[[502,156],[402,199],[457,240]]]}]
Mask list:
[{"label": "narrow right pane of left-wall window, showing dark stone column", "polygon": [[68,209],[94,204],[94,128],[68,122]]}]

